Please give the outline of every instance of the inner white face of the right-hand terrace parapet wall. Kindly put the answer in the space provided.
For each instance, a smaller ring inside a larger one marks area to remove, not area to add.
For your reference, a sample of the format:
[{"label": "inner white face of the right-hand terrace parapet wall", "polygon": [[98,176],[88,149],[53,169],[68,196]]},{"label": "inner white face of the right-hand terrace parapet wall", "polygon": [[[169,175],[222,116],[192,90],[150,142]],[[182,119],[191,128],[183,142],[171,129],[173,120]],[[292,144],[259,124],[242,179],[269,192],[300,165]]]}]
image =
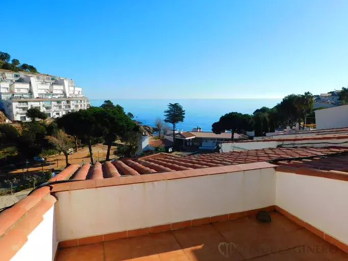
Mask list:
[{"label": "inner white face of the right-hand terrace parapet wall", "polygon": [[276,205],[348,244],[348,182],[277,172]]}]

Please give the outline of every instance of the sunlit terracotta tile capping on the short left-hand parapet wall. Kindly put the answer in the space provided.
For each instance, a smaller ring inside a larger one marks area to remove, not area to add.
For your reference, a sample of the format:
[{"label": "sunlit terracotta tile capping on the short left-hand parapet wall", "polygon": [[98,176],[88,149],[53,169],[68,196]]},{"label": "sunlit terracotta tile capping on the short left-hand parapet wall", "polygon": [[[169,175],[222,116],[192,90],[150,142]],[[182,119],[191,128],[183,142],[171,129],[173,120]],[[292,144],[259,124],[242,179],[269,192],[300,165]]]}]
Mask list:
[{"label": "sunlit terracotta tile capping on the short left-hand parapet wall", "polygon": [[55,202],[49,188],[43,187],[0,213],[1,260],[10,260],[19,251]]}]

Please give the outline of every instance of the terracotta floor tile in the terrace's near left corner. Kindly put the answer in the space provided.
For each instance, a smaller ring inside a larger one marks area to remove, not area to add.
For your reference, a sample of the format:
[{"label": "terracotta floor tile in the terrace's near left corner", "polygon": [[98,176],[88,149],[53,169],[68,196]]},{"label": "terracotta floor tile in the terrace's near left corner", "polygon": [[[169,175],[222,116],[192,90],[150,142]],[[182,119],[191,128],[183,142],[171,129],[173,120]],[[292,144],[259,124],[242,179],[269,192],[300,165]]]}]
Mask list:
[{"label": "terracotta floor tile in the terrace's near left corner", "polygon": [[[103,243],[63,248],[59,251],[57,261],[103,261]],[[110,259],[114,260],[114,259]]]}]

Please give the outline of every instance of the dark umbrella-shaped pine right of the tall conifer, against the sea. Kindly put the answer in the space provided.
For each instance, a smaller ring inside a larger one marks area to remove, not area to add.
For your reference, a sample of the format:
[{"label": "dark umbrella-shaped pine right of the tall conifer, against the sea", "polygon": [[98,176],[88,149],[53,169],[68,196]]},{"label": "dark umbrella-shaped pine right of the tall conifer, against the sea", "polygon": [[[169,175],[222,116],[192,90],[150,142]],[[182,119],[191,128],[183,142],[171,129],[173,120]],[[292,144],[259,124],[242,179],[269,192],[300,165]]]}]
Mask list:
[{"label": "dark umbrella-shaped pine right of the tall conifer, against the sea", "polygon": [[254,120],[249,114],[230,112],[220,117],[220,120],[211,125],[211,131],[215,134],[221,134],[225,131],[231,132],[231,140],[234,140],[234,134],[244,134],[252,131]]}]

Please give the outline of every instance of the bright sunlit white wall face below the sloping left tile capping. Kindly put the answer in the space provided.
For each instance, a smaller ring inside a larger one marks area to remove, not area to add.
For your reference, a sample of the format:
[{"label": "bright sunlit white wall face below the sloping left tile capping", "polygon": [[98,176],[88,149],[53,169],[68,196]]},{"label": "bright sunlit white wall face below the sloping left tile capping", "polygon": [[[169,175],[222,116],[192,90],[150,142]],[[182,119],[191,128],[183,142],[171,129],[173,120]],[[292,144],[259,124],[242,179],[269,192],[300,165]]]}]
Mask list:
[{"label": "bright sunlit white wall face below the sloping left tile capping", "polygon": [[43,215],[43,221],[29,234],[28,241],[11,258],[11,261],[53,261],[57,246],[55,205],[53,205]]}]

